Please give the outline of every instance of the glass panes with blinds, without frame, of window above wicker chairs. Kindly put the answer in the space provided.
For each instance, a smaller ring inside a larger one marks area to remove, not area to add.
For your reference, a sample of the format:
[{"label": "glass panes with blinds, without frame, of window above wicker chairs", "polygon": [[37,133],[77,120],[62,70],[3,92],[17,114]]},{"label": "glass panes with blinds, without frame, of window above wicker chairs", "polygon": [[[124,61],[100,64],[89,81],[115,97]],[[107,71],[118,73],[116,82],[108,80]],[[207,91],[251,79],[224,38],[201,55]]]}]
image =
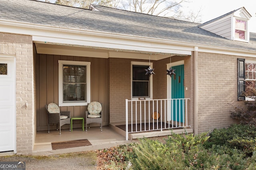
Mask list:
[{"label": "glass panes with blinds, without frame, of window above wicker chairs", "polygon": [[63,64],[63,102],[86,102],[86,66]]}]

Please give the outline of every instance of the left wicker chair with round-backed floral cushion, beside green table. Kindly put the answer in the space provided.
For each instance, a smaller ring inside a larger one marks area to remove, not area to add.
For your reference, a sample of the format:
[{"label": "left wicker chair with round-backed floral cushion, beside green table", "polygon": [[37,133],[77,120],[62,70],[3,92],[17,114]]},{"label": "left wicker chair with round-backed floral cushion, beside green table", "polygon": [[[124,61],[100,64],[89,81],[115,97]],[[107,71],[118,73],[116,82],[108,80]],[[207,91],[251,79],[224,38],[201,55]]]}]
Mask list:
[{"label": "left wicker chair with round-backed floral cushion, beside green table", "polygon": [[60,135],[61,135],[61,127],[62,125],[69,124],[69,130],[71,131],[70,127],[70,111],[60,111],[60,108],[55,103],[50,103],[45,105],[47,115],[48,115],[48,133],[50,133],[50,123],[57,124],[57,131],[58,131],[58,124],[60,125]]}]

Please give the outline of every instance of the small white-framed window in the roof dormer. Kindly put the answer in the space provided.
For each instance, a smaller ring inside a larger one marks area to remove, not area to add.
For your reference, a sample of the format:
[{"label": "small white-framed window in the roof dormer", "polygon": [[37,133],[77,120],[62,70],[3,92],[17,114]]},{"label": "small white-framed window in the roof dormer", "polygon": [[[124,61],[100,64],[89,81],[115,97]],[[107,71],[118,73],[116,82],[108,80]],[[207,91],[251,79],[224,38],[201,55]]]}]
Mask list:
[{"label": "small white-framed window in the roof dormer", "polygon": [[235,40],[247,41],[247,21],[235,19]]}]

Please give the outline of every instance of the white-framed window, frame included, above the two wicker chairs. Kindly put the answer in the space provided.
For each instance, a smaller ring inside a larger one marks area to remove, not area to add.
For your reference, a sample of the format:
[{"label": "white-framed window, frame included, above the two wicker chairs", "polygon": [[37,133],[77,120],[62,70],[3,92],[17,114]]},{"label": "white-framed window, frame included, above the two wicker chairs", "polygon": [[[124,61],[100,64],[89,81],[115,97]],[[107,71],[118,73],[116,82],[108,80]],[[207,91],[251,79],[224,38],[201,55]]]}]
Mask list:
[{"label": "white-framed window, frame included, above the two wicker chairs", "polygon": [[59,60],[59,106],[90,103],[90,62]]}]

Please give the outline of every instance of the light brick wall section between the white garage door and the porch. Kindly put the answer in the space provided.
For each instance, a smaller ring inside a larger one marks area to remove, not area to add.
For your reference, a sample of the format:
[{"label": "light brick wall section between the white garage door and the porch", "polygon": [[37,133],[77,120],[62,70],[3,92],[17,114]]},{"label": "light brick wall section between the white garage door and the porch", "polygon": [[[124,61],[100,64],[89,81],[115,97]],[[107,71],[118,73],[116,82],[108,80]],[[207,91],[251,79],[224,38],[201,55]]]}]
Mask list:
[{"label": "light brick wall section between the white garage door and the porch", "polygon": [[[33,148],[33,45],[32,37],[0,33],[0,53],[16,56],[16,149],[32,154]],[[26,108],[26,102],[28,107]]]}]

